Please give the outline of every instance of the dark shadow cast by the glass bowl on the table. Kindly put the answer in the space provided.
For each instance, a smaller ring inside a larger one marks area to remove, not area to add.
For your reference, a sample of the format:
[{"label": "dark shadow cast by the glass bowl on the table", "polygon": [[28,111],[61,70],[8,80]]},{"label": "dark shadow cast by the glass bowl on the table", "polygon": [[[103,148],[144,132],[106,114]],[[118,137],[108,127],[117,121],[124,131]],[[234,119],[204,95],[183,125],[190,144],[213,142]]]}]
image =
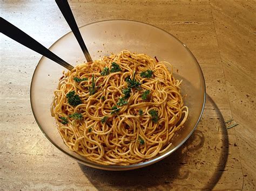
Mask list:
[{"label": "dark shadow cast by the glass bowl on the table", "polygon": [[[223,139],[223,149],[220,154],[220,158],[210,181],[207,182],[203,189],[213,189],[215,184],[219,181],[221,174],[224,171],[228,155],[228,137],[227,132],[225,132],[225,124],[223,116],[221,115],[217,105],[213,100],[207,96],[208,101],[211,102],[212,106],[217,112],[217,116],[220,120],[221,129],[224,130],[225,135]],[[193,146],[191,146],[193,145]],[[203,132],[195,130],[191,137],[186,141],[186,143],[181,146],[177,151],[172,153],[169,157],[153,164],[140,169],[134,169],[131,171],[103,171],[99,169],[93,169],[82,164],[79,164],[84,175],[90,180],[90,182],[97,189],[145,189],[145,188],[159,188],[159,189],[171,189],[175,188],[175,180],[180,179],[186,181],[190,175],[189,168],[181,167],[187,164],[186,157],[187,151],[190,153],[197,153],[201,147],[205,145],[205,136]],[[209,172],[209,176],[212,172]],[[191,177],[190,177],[191,179]],[[193,177],[192,177],[193,179]],[[194,181],[195,182],[195,181]],[[172,184],[174,183],[174,185]],[[186,183],[182,184],[186,185]],[[193,185],[190,185],[192,188]]]}]

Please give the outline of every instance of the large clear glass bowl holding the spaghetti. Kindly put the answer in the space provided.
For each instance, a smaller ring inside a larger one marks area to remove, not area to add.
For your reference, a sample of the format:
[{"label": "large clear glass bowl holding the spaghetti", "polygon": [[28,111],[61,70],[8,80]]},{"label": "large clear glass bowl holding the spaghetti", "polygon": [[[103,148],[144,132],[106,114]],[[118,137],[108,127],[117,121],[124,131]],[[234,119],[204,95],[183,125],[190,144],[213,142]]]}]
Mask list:
[{"label": "large clear glass bowl holding the spaghetti", "polygon": [[[128,49],[131,52],[148,54],[152,58],[157,56],[160,61],[171,62],[174,68],[174,77],[183,80],[181,93],[183,95],[187,94],[185,104],[190,109],[188,121],[184,128],[177,133],[177,136],[173,138],[171,148],[152,160],[130,166],[104,166],[89,161],[85,157],[70,151],[58,134],[55,119],[51,117],[50,105],[53,91],[57,87],[64,68],[43,56],[32,77],[30,100],[33,115],[44,135],[60,151],[78,162],[110,171],[148,166],[177,150],[196,129],[205,104],[204,76],[190,50],[170,33],[156,26],[131,20],[105,20],[82,26],[79,29],[93,60]],[[65,34],[49,49],[71,65],[75,66],[85,61],[83,52],[72,32]]]}]

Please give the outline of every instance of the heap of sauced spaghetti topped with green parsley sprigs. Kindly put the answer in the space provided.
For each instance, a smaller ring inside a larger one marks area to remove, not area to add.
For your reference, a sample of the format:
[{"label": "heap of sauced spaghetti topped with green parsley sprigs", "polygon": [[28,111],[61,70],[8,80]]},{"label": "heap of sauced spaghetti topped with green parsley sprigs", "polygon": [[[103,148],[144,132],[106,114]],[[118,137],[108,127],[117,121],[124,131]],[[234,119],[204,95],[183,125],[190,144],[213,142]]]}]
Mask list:
[{"label": "heap of sauced spaghetti topped with green parsley sprigs", "polygon": [[171,147],[187,120],[169,62],[125,50],[63,75],[51,106],[59,134],[71,151],[98,164],[152,159]]}]

